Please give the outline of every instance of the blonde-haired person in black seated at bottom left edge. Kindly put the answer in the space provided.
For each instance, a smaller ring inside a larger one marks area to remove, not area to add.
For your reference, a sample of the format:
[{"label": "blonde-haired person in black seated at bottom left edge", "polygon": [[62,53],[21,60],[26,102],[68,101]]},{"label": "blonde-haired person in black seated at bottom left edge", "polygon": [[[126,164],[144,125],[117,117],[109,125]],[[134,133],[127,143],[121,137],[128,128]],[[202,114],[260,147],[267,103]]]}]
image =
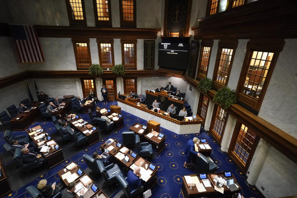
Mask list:
[{"label": "blonde-haired person in black seated at bottom left edge", "polygon": [[45,198],[52,198],[62,190],[62,186],[63,186],[62,183],[58,183],[58,185],[56,185],[56,183],[53,183],[52,185],[46,185],[46,184],[47,184],[47,180],[41,179],[37,185],[39,192],[41,192],[42,196],[44,196]]}]

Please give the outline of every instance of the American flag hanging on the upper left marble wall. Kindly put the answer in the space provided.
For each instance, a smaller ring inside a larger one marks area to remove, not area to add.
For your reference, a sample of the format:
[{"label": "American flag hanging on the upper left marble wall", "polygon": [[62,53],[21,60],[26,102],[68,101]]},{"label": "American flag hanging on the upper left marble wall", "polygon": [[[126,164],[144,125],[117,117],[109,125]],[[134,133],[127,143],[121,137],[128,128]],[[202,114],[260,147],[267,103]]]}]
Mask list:
[{"label": "American flag hanging on the upper left marble wall", "polygon": [[9,24],[20,62],[43,62],[44,57],[34,25]]}]

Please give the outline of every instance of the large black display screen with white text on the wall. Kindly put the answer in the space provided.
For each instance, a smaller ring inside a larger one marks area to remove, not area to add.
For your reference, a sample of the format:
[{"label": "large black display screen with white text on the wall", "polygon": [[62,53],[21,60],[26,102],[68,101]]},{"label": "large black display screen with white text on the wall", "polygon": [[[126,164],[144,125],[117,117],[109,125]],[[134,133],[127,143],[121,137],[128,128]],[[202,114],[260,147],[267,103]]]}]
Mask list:
[{"label": "large black display screen with white text on the wall", "polygon": [[188,43],[159,43],[159,67],[178,71],[187,70],[189,47]]}]

